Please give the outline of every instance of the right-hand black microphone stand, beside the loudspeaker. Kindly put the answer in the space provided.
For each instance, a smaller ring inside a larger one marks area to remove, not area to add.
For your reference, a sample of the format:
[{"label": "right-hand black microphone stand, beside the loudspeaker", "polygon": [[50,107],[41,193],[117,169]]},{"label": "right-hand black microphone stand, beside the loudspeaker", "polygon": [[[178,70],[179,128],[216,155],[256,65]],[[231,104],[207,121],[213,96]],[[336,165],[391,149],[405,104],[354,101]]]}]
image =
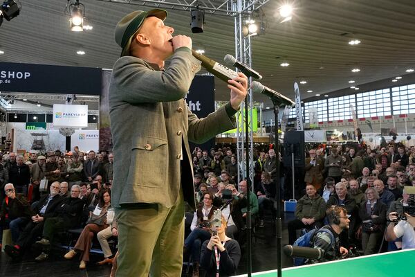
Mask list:
[{"label": "right-hand black microphone stand, beside the loudspeaker", "polygon": [[275,116],[275,155],[277,156],[276,166],[277,166],[277,178],[275,180],[275,185],[277,192],[275,193],[275,200],[277,201],[277,218],[275,219],[275,238],[277,238],[277,276],[282,276],[282,263],[281,263],[281,240],[282,240],[282,224],[281,224],[281,195],[279,193],[279,139],[278,139],[278,112],[279,112],[279,103],[276,99],[270,98],[273,101],[274,105],[274,116]]}]

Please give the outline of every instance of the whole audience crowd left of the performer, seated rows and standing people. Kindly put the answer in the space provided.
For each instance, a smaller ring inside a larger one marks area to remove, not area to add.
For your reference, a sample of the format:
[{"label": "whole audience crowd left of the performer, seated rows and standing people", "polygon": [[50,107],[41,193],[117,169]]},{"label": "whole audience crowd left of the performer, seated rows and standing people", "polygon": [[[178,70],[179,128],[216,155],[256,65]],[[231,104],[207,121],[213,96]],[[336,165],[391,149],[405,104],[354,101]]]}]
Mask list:
[{"label": "whole audience crowd left of the performer, seated rows and standing people", "polygon": [[[104,254],[98,265],[111,264],[113,253],[108,240],[118,236],[110,204],[113,154],[90,151],[85,156],[75,148],[66,154],[56,151],[46,156],[33,152],[2,155],[0,239],[6,238],[3,233],[10,233],[10,238],[0,245],[13,259],[35,253],[35,261],[42,262],[57,250],[55,246],[71,243],[67,241],[71,237],[68,231],[83,228],[71,250],[82,253],[80,269],[89,261],[95,237]],[[46,191],[39,189],[42,185]]]}]

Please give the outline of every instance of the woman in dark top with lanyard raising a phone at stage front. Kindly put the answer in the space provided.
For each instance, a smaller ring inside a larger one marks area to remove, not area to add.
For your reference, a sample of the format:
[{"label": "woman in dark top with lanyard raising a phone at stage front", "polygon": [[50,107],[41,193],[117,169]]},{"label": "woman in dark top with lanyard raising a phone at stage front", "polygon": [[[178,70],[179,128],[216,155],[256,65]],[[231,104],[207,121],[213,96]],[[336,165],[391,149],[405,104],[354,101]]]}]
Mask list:
[{"label": "woman in dark top with lanyard raising a phone at stage front", "polygon": [[241,259],[239,243],[225,235],[225,217],[222,216],[220,227],[211,226],[211,229],[216,233],[212,233],[210,240],[203,243],[201,251],[201,267],[206,271],[205,276],[218,276],[216,260],[219,260],[219,276],[234,276]]}]

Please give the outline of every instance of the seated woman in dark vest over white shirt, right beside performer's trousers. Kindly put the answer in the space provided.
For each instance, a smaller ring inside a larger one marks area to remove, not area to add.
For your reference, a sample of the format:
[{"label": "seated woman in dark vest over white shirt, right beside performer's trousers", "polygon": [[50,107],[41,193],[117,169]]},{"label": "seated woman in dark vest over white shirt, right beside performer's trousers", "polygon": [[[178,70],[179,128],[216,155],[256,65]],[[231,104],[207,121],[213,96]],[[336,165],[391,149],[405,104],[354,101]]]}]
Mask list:
[{"label": "seated woman in dark vest over white shirt, right beside performer's trousers", "polygon": [[190,233],[185,239],[183,251],[192,251],[193,262],[193,277],[199,276],[199,260],[201,256],[201,244],[205,240],[210,239],[210,224],[209,219],[213,215],[213,211],[217,210],[216,206],[212,205],[212,193],[203,193],[203,206],[197,209],[193,215],[192,225],[190,225]]}]

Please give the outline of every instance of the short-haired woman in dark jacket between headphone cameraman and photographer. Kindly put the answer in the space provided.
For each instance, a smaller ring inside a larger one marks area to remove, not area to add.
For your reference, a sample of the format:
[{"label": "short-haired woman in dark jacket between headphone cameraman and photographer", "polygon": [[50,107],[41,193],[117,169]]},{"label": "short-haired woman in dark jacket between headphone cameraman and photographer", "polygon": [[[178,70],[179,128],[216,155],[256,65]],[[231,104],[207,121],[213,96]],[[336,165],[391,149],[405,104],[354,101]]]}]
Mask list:
[{"label": "short-haired woman in dark jacket between headphone cameraman and photographer", "polygon": [[359,216],[362,220],[362,249],[364,255],[377,253],[383,239],[387,206],[379,201],[378,191],[367,188],[365,202],[360,204]]}]

